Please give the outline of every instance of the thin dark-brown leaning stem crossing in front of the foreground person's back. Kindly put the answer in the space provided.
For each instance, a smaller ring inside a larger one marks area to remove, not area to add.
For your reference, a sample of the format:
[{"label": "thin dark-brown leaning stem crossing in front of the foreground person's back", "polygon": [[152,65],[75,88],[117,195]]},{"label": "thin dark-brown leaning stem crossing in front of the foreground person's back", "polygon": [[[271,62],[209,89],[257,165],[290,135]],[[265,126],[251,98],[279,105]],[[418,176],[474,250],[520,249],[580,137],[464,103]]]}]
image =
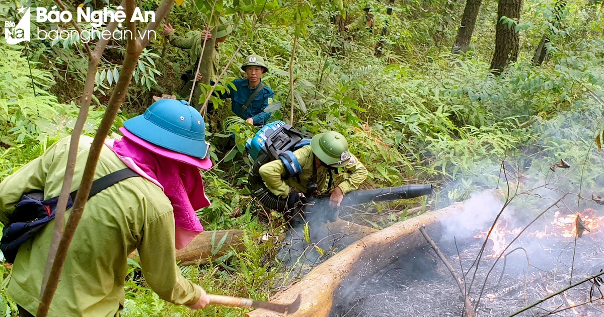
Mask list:
[{"label": "thin dark-brown leaning stem crossing in front of the foreground person's back", "polygon": [[[156,11],[156,19],[157,21],[161,21],[164,19],[165,15],[169,11],[170,7],[172,7],[174,0],[164,0],[159,8]],[[126,19],[130,21],[134,11],[134,1],[127,0],[126,1]],[[158,22],[152,22],[147,25],[147,30],[155,30],[158,26]],[[114,25],[115,27],[115,25]],[[131,25],[129,25],[131,27]],[[153,27],[153,28],[151,28]],[[133,33],[136,34],[136,33]],[[145,33],[149,34],[149,32]],[[107,41],[101,40],[99,41],[99,45],[106,46]],[[144,45],[142,45],[144,43]],[[138,57],[143,51],[144,46],[149,43],[149,37],[147,39],[128,39],[128,46],[126,49],[126,59],[124,60],[120,78],[115,85],[115,89],[109,99],[109,104],[107,106],[106,112],[103,116],[103,120],[101,120],[100,125],[98,126],[98,130],[94,139],[92,140],[92,144],[89,150],[88,158],[86,159],[86,165],[84,168],[84,173],[82,176],[82,181],[80,182],[80,187],[76,195],[76,199],[74,201],[71,214],[69,215],[68,222],[65,226],[65,231],[61,235],[61,239],[59,241],[59,245],[57,246],[56,257],[54,258],[50,274],[48,274],[48,280],[42,295],[40,296],[40,303],[38,306],[38,310],[36,313],[37,317],[46,317],[48,315],[48,310],[50,309],[51,301],[53,300],[54,293],[57,290],[57,286],[59,284],[59,278],[63,271],[63,264],[65,264],[65,258],[67,257],[67,253],[69,250],[69,245],[71,245],[71,241],[73,240],[74,234],[76,233],[77,225],[82,219],[82,214],[88,200],[88,195],[90,193],[92,182],[94,181],[94,172],[96,169],[96,165],[98,162],[98,158],[100,157],[101,149],[103,147],[103,141],[109,133],[109,129],[117,116],[118,110],[120,110],[120,105],[126,97],[126,91],[128,86],[130,85],[130,80],[132,79],[132,74],[134,69],[138,63]],[[96,50],[95,50],[96,51]],[[96,52],[95,52],[96,53]],[[102,53],[102,52],[100,52]],[[100,59],[100,54],[93,54],[92,59]],[[92,63],[92,62],[91,62]],[[98,66],[98,60],[97,60]],[[87,82],[88,77],[87,75]],[[94,77],[94,76],[93,76]],[[91,83],[94,88],[94,78]],[[88,89],[88,86],[85,87]],[[86,95],[85,91],[85,95]],[[92,91],[90,91],[90,96],[92,95]],[[80,112],[83,110],[83,107],[80,108]],[[88,107],[86,107],[86,112],[88,111]],[[78,119],[80,119],[80,115],[78,115]],[[84,118],[85,120],[85,118]],[[80,132],[81,133],[81,132]],[[79,134],[77,135],[79,138]],[[73,138],[73,136],[72,136]],[[71,150],[71,149],[70,149]],[[77,147],[76,147],[77,150]],[[73,158],[73,163],[75,165],[75,156]],[[69,163],[68,163],[69,164]],[[73,175],[71,175],[71,178]],[[65,188],[63,188],[65,189]],[[63,191],[62,189],[62,191]],[[55,220],[57,223],[59,221]]]}]

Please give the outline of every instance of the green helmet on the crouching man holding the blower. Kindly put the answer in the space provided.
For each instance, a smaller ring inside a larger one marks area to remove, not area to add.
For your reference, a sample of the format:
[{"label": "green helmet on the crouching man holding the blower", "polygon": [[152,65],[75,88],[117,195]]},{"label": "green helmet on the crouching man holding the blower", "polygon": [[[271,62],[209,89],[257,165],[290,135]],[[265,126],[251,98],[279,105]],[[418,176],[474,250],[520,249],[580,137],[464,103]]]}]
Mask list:
[{"label": "green helmet on the crouching man holding the blower", "polygon": [[338,132],[319,133],[310,141],[312,153],[331,167],[343,167],[349,163],[348,141]]}]

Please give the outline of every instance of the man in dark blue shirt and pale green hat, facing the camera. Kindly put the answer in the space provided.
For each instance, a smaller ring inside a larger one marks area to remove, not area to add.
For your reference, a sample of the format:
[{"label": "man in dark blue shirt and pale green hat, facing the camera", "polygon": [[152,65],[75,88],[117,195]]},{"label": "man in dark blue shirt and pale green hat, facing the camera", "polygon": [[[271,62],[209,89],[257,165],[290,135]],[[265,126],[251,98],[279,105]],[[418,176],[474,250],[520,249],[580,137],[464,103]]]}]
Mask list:
[{"label": "man in dark blue shirt and pale green hat, facing the camera", "polygon": [[268,71],[264,59],[258,55],[250,55],[241,65],[247,78],[233,80],[233,86],[220,94],[220,98],[231,98],[231,110],[243,120],[254,126],[263,126],[271,118],[264,110],[274,102],[275,93],[262,82],[262,74]]}]

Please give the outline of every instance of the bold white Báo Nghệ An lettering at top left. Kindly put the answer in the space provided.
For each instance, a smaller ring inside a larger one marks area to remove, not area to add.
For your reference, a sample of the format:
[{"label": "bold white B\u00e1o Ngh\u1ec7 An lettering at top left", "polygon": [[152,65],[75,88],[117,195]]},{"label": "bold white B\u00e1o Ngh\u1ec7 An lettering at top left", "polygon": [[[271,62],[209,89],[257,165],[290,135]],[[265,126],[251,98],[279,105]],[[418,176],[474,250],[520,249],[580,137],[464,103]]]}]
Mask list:
[{"label": "bold white B\u00e1o Ngh\u1ec7 An lettering at top left", "polygon": [[[36,8],[36,22],[51,22],[51,23],[67,23],[73,19],[71,11],[58,11],[57,6],[53,6],[50,11],[44,7]],[[126,22],[126,11],[123,7],[117,7],[116,11],[108,10],[91,10],[90,7],[85,9],[82,7],[77,8],[77,22],[89,22],[92,27],[100,27],[103,24],[109,22]],[[132,18],[129,22],[155,22],[155,11],[141,11],[140,8],[136,7]]]}]

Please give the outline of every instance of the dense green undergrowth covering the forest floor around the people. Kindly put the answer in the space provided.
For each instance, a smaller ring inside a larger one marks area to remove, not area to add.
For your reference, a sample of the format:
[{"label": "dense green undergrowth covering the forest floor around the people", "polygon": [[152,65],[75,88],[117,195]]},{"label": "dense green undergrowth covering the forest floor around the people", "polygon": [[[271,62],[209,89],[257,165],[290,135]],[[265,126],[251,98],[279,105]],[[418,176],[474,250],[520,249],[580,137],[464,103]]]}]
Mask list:
[{"label": "dense green undergrowth covering the forest floor around the people", "polygon": [[[42,2],[38,5],[50,6]],[[157,1],[143,4],[156,5]],[[193,5],[185,2],[173,9],[170,20],[178,34],[202,27]],[[359,5],[345,2],[347,22],[358,16]],[[489,72],[495,2],[483,4],[471,51],[463,57],[449,53],[463,11],[461,2],[397,2],[390,17],[385,4],[375,2],[374,32],[379,33],[386,19],[390,21],[388,45],[379,58],[371,39],[336,31],[330,23],[334,9],[313,7],[312,26],[300,39],[294,62],[294,126],[309,133],[337,130],[346,135],[351,151],[370,171],[365,187],[416,182],[439,187],[435,197],[376,205],[350,217],[382,228],[406,218],[405,212],[396,211],[417,206],[434,209],[464,199],[472,191],[495,187],[502,161],[538,182],[556,177],[549,167],[564,158],[574,168],[567,175],[568,186],[581,183],[583,190],[590,191],[604,184],[604,159],[593,142],[603,127],[603,9],[588,1],[569,3],[564,27],[551,36],[551,54],[542,66],[533,66],[531,59],[550,24],[553,5],[554,1],[525,1],[517,25],[519,60],[499,77]],[[0,11],[10,16],[17,7],[20,4],[14,1]],[[242,75],[243,56],[265,56],[270,71],[263,81],[275,91],[275,100],[285,104],[274,119],[289,118],[291,27],[266,24],[252,33],[234,33],[220,46],[221,65],[228,63],[244,39],[226,79]],[[342,41],[344,53],[333,54],[332,46]],[[114,43],[101,64],[86,134],[94,134],[103,114],[123,60],[123,45]],[[179,74],[187,63],[187,55],[165,45],[163,39],[153,43],[141,57],[114,132],[124,120],[142,112],[152,95],[178,92]],[[77,40],[38,41],[27,48],[2,42],[0,179],[68,135],[86,68]],[[182,267],[182,272],[208,292],[267,299],[292,282],[280,271],[278,242],[262,239],[281,236],[284,227],[256,216],[257,205],[245,188],[249,162],[245,154],[238,154],[254,130],[227,119],[231,115],[229,105],[222,104],[208,118],[209,140],[214,144],[211,155],[221,163],[204,174],[212,205],[199,216],[207,229],[243,228],[246,251],[231,252],[213,264]],[[233,150],[219,146],[230,133],[237,136]],[[10,270],[3,273],[0,315],[10,316],[14,303],[3,292]],[[241,316],[245,312],[221,307],[191,312],[167,304],[145,286],[134,261],[126,288],[123,316]]]}]

